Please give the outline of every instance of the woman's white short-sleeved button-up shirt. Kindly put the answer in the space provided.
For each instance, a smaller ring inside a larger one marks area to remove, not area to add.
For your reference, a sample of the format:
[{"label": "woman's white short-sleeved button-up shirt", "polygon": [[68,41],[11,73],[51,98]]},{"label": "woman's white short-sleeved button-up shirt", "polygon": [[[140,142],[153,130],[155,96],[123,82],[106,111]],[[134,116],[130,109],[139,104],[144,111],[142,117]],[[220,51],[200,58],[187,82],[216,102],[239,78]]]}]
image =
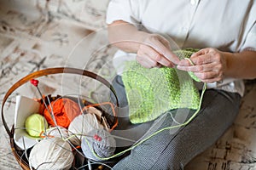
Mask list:
[{"label": "woman's white short-sleeved button-up shirt", "polygon": [[[255,0],[112,0],[107,23],[114,20],[170,37],[178,48],[256,50]],[[115,63],[119,67],[120,60],[129,58],[121,52],[115,57],[120,55],[122,58]],[[207,88],[244,93],[243,82],[232,78],[224,79],[223,83],[208,83]]]}]

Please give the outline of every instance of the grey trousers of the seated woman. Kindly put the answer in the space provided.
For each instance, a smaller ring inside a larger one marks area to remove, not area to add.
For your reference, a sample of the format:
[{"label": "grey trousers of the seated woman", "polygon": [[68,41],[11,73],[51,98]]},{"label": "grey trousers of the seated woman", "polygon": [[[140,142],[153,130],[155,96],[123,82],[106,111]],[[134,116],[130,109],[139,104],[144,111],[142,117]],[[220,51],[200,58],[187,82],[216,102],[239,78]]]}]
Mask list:
[{"label": "grey trousers of the seated woman", "polygon": [[[113,131],[114,135],[137,140],[147,137],[163,127],[178,124],[180,117],[176,115],[177,111],[168,111],[154,122],[131,124],[127,115],[129,107],[121,77],[115,77],[113,87],[117,92],[120,105],[119,127]],[[130,155],[120,160],[113,169],[183,169],[195,156],[214,144],[230,127],[239,111],[240,100],[239,94],[207,89],[203,97],[201,111],[192,122],[183,127],[155,134],[132,149]],[[186,109],[178,110],[178,115],[185,115],[186,119],[193,114],[193,111]],[[129,145],[129,142],[117,141],[117,144]]]}]

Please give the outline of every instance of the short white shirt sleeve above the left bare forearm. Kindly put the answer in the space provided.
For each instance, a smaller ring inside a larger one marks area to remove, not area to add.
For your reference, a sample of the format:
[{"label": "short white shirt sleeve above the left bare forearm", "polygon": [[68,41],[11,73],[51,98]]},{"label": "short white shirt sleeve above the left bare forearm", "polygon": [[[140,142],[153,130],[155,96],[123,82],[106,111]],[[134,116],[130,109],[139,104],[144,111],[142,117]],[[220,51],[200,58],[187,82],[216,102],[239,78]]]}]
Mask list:
[{"label": "short white shirt sleeve above the left bare forearm", "polygon": [[139,21],[139,0],[111,0],[107,10],[107,24],[115,20],[124,20],[135,26]]}]

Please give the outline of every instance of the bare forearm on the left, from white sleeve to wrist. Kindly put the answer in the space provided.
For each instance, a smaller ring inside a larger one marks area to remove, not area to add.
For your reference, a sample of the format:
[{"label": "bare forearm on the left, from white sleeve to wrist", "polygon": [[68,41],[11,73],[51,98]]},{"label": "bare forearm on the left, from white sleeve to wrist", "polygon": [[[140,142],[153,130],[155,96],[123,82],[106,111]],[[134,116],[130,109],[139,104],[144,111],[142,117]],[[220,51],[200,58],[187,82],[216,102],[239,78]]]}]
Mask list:
[{"label": "bare forearm on the left, from white sleeve to wrist", "polygon": [[121,20],[114,21],[108,26],[109,42],[128,53],[137,53],[140,43],[143,42],[147,34]]}]

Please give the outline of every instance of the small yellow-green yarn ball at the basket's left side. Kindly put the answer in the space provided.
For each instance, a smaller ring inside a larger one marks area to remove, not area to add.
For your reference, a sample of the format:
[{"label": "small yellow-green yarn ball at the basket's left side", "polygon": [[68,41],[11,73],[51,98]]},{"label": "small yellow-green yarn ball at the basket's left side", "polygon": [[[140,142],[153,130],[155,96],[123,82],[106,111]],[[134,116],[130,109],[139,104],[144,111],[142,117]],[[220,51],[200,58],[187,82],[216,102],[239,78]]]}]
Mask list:
[{"label": "small yellow-green yarn ball at the basket's left side", "polygon": [[25,122],[26,132],[32,137],[39,137],[44,128],[48,127],[48,123],[44,116],[34,113],[26,118]]}]

